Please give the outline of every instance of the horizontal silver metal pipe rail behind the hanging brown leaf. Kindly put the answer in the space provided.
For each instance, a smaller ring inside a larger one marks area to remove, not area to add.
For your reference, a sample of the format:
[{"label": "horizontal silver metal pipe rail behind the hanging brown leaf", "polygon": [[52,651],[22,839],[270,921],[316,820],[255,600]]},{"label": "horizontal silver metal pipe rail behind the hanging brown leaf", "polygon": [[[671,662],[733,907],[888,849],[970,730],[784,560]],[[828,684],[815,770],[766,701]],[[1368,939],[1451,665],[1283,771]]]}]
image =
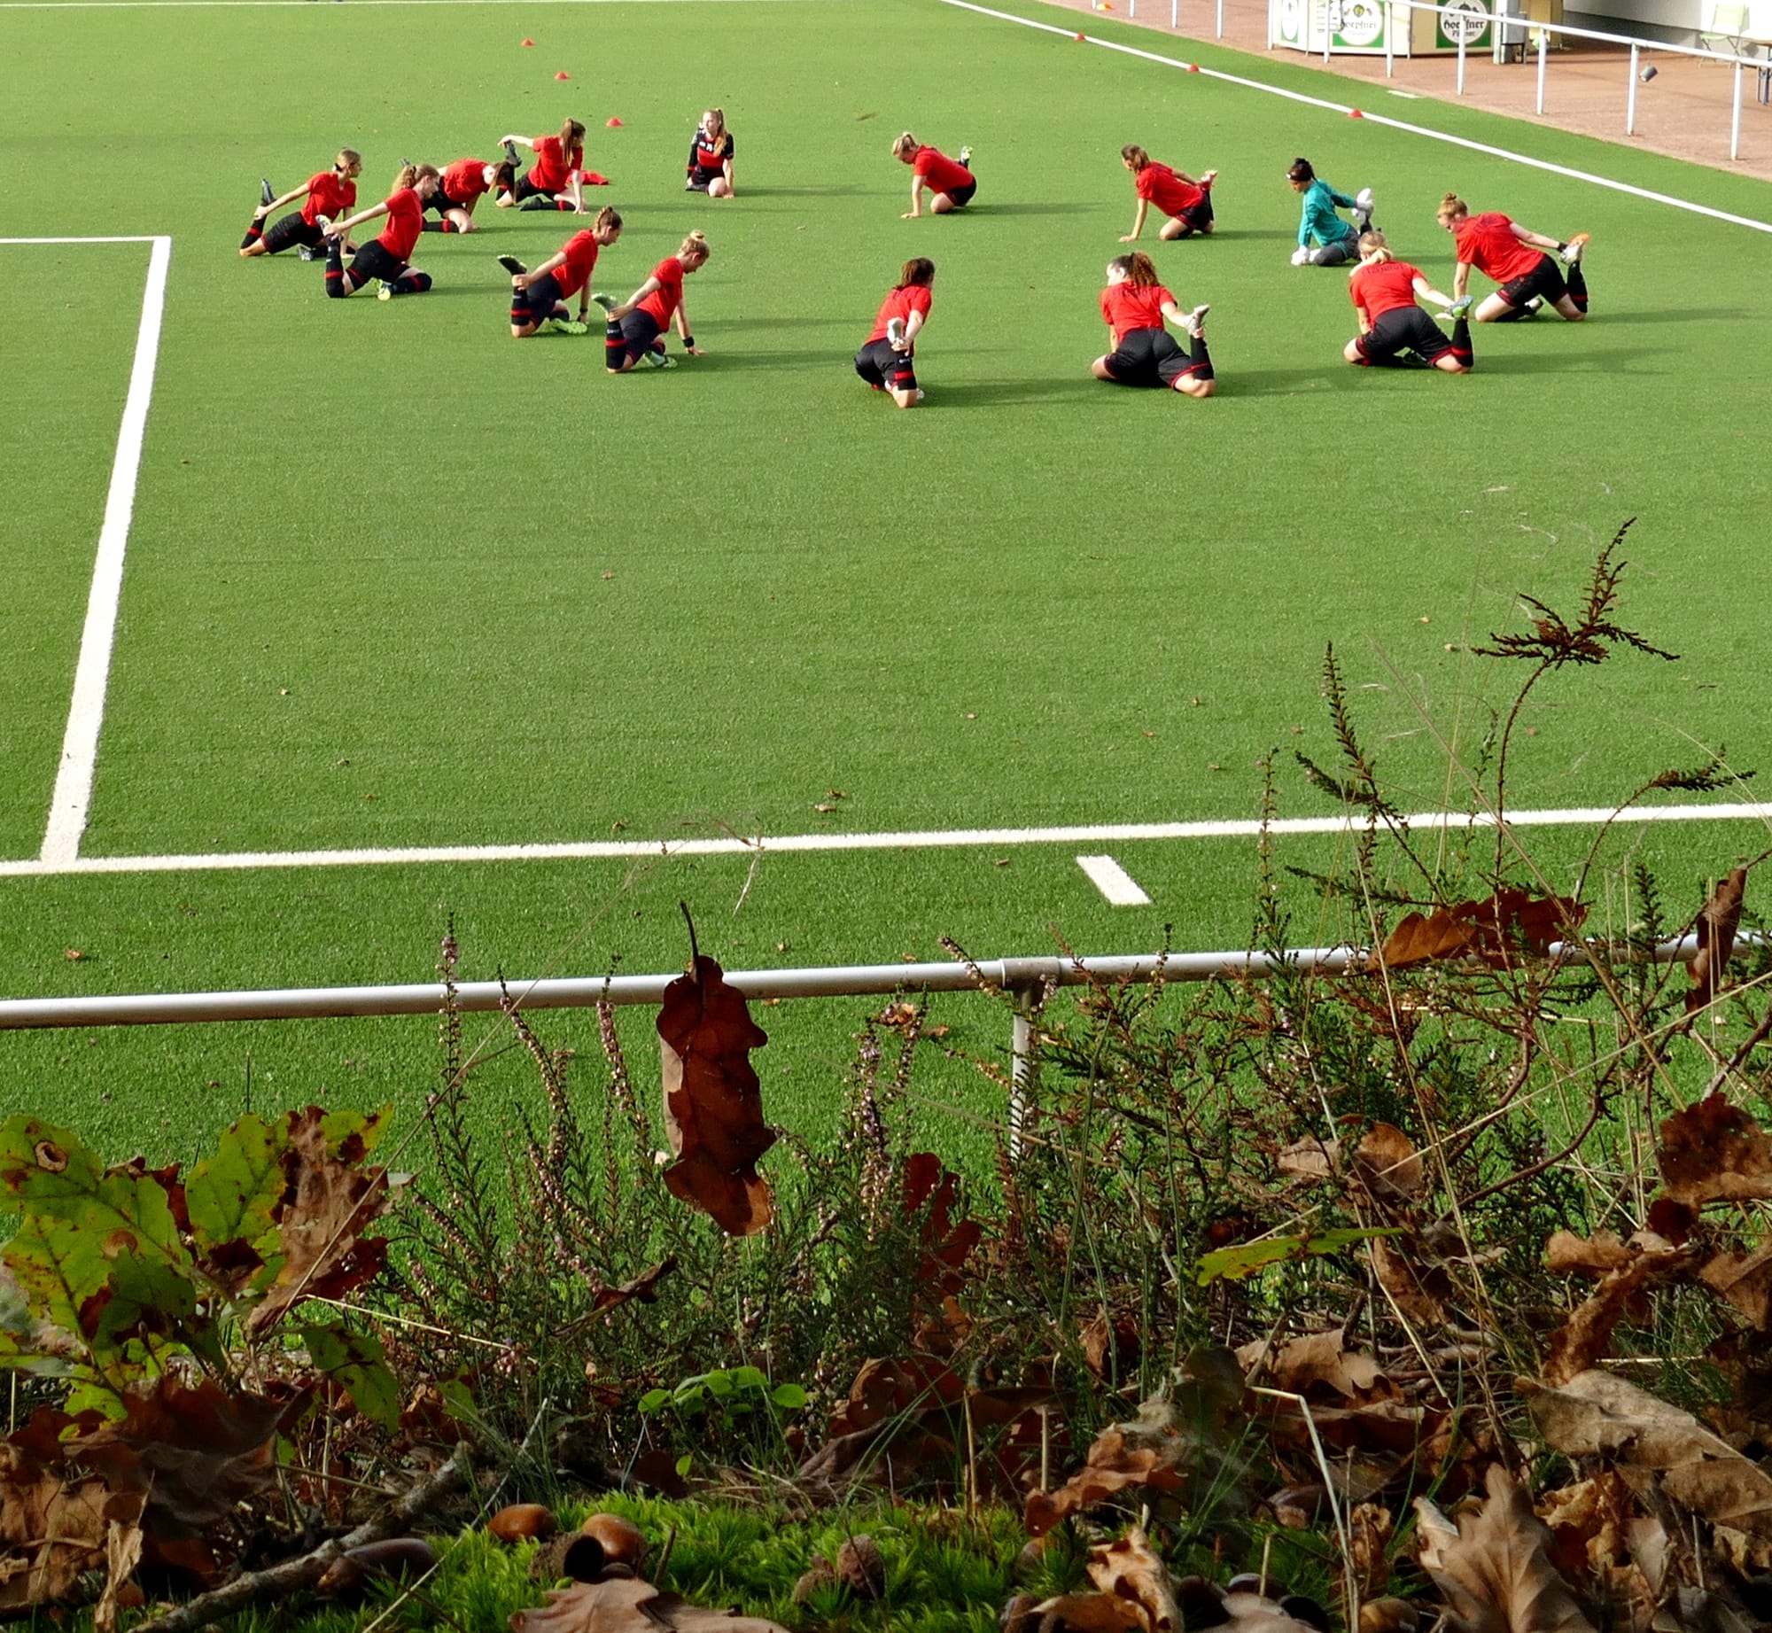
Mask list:
[{"label": "horizontal silver metal pipe rail behind the hanging brown leaf", "polygon": [[[1745,940],[1747,937],[1740,937]],[[1589,942],[1623,962],[1628,949]],[[1561,942],[1550,955],[1575,953]],[[1690,962],[1698,937],[1662,942],[1657,962]],[[1366,958],[1364,948],[1292,948],[1285,953],[1138,953],[1116,958],[982,958],[976,964],[851,964],[822,969],[728,971],[727,981],[750,999],[868,997],[891,992],[976,992],[985,987],[1031,994],[1042,987],[1088,981],[1217,981],[1278,969],[1345,972]],[[505,994],[521,1010],[585,1010],[595,1004],[659,1004],[680,971],[661,976],[606,976],[535,981],[462,981],[455,1004],[464,1013],[498,1010]],[[177,1025],[213,1020],[308,1020],[346,1015],[436,1015],[443,987],[292,987],[248,992],[165,992],[117,997],[35,997],[0,1001],[0,1031],[96,1025]]]}]

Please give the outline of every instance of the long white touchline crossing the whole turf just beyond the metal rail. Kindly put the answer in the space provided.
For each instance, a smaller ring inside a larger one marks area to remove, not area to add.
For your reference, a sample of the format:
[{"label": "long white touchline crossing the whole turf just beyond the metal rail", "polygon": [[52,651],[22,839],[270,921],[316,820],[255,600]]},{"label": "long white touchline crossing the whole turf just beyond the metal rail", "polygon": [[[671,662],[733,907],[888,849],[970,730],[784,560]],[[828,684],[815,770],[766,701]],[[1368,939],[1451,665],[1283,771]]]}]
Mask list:
[{"label": "long white touchline crossing the whole turf just beyond the metal rail", "polygon": [[[1510,827],[1595,827],[1611,806],[1565,811],[1510,811]],[[1494,827],[1490,816],[1448,816],[1426,811],[1403,818],[1416,829]],[[1655,806],[1620,818],[1644,822],[1760,822],[1772,827],[1772,806]],[[1359,824],[1345,816],[1292,816],[1267,824],[1271,834],[1340,834]],[[1148,840],[1251,840],[1262,824],[1237,822],[1122,822],[1086,827],[962,827],[891,834],[721,834],[707,840],[583,840],[556,845],[425,845],[406,850],[222,850],[195,855],[80,855],[67,863],[43,857],[0,863],[0,878],[64,873],[204,873],[259,868],[381,868],[434,863],[558,863],[634,861],[673,855],[804,855],[836,850],[980,850],[1005,845],[1115,845]]]}]

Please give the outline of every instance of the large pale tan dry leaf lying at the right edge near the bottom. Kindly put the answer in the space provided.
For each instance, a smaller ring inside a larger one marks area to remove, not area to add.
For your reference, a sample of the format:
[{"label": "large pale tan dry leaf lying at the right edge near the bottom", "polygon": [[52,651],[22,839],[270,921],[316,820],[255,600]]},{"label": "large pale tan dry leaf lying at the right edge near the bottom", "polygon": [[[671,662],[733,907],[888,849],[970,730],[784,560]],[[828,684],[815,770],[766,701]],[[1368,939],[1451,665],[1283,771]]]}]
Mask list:
[{"label": "large pale tan dry leaf lying at the right edge near the bottom", "polygon": [[1772,1475],[1648,1390],[1589,1371],[1559,1387],[1515,1378],[1543,1438],[1570,1458],[1611,1458],[1653,1474],[1675,1502],[1715,1525],[1772,1537]]}]

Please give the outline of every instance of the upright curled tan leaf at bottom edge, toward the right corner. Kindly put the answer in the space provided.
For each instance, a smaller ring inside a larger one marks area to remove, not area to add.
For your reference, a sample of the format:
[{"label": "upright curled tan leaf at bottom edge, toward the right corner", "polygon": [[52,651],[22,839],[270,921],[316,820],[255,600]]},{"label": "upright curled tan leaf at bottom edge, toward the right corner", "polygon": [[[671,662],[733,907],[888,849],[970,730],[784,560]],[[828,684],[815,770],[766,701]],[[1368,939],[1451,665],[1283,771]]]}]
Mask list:
[{"label": "upright curled tan leaf at bottom edge, toward the right corner", "polygon": [[1419,1557],[1458,1633],[1593,1633],[1547,1553],[1550,1534],[1499,1463],[1488,1498],[1453,1530],[1425,1497],[1416,1498]]}]

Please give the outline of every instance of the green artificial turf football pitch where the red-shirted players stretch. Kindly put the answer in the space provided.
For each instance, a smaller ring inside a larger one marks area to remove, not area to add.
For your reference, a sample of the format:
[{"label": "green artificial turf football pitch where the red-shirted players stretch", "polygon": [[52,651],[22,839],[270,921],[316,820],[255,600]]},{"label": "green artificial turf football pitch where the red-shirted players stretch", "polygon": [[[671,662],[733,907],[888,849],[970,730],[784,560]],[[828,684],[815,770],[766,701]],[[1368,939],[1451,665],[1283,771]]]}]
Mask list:
[{"label": "green artificial turf football pitch where the red-shirted players stretch", "polygon": [[[1513,802],[1604,806],[1699,744],[1763,756],[1761,232],[936,0],[0,5],[0,44],[11,174],[89,177],[16,191],[5,230],[174,246],[83,857],[1249,818],[1272,746],[1333,755],[1329,641],[1398,801],[1432,809],[1446,755],[1405,689],[1469,747],[1515,677],[1464,648],[1522,627],[1517,592],[1575,602],[1632,515],[1625,622],[1683,662],[1545,687]],[[707,104],[737,136],[727,204],[682,191]],[[1758,182],[1395,106],[1772,220]],[[347,143],[374,202],[404,156],[493,156],[501,131],[565,113],[615,182],[592,197],[627,221],[599,289],[626,294],[691,227],[712,239],[686,290],[707,358],[610,379],[597,331],[512,342],[493,253],[546,257],[560,216],[484,207],[480,234],[425,236],[436,290],[397,303],[331,303],[317,266],[234,253],[260,174],[287,188]],[[900,220],[905,126],[975,147],[969,211]],[[1123,142],[1219,170],[1212,241],[1146,228],[1184,305],[1212,303],[1210,402],[1088,377],[1132,216]],[[1343,190],[1373,184],[1396,252],[1442,287],[1446,190],[1591,232],[1593,322],[1480,328],[1465,379],[1347,367],[1343,276],[1288,266],[1281,170],[1301,152]],[[849,360],[923,253],[929,402],[895,413]],[[0,452],[5,857],[43,843],[147,259],[0,244],[21,292],[0,315],[21,429]],[[1325,815],[1290,765],[1279,783],[1286,815]],[[1628,838],[1678,889],[1763,843],[1740,824]],[[1540,840],[1552,871],[1579,847]],[[1108,907],[1084,850],[1152,905]],[[941,958],[943,933],[1044,953],[1054,926],[1090,953],[1150,949],[1166,925],[1178,948],[1239,946],[1251,880],[1247,840],[14,870],[0,988],[420,981],[450,910],[470,978],[668,969],[679,898],[728,967]],[[1315,939],[1308,898],[1297,928]],[[804,1082],[801,1114],[833,1096],[865,1008],[771,1011],[766,1080]],[[1001,1047],[1001,1017],[943,1013]],[[427,1036],[7,1034],[0,1109],[177,1148],[248,1075],[278,1103],[418,1093]]]}]

